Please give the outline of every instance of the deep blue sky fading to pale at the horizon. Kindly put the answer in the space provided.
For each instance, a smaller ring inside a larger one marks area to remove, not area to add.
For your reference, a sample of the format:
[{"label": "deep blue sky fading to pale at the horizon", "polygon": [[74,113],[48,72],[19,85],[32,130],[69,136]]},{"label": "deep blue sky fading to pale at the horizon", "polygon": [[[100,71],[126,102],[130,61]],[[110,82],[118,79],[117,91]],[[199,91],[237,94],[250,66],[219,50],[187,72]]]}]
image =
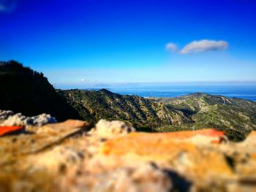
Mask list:
[{"label": "deep blue sky fading to pale at the horizon", "polygon": [[254,0],[0,0],[0,60],[53,85],[256,82]]}]

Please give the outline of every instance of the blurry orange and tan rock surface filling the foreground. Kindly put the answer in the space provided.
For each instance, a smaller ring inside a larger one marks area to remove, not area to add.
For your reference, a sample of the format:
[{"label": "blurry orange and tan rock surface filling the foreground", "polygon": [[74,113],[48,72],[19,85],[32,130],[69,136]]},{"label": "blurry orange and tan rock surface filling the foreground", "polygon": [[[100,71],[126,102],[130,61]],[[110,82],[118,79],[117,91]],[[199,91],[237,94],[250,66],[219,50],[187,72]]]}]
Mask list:
[{"label": "blurry orange and tan rock surface filling the foreground", "polygon": [[0,137],[0,191],[256,191],[256,133],[142,133],[67,120]]}]

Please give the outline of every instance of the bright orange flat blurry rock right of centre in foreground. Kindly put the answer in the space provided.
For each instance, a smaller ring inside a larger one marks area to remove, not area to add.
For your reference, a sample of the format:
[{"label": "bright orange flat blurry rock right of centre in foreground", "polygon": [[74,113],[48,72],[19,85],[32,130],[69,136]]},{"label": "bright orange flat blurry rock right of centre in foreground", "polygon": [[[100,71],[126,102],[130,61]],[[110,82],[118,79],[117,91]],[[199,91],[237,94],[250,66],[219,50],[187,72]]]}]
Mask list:
[{"label": "bright orange flat blurry rock right of centre in foreground", "polygon": [[[187,133],[184,134],[187,138]],[[196,174],[197,178],[201,179],[206,177],[206,174],[219,177],[232,174],[222,153],[202,150],[192,143],[176,142],[176,139],[176,134],[135,132],[105,142],[100,152],[108,158],[121,157],[122,161],[165,161],[178,171]]]}]

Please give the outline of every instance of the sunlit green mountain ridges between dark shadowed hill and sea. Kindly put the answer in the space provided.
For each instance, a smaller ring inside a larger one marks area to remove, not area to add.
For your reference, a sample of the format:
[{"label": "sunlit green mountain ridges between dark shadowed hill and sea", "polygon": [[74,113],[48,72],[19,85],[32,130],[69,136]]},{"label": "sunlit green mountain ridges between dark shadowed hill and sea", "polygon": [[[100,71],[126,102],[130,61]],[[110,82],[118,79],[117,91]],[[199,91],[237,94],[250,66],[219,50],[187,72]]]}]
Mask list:
[{"label": "sunlit green mountain ridges between dark shadowed hill and sea", "polygon": [[256,103],[244,99],[194,93],[180,98],[146,99],[99,91],[58,93],[91,122],[100,118],[125,120],[140,131],[181,131],[200,128],[224,130],[230,139],[244,139],[256,130]]}]

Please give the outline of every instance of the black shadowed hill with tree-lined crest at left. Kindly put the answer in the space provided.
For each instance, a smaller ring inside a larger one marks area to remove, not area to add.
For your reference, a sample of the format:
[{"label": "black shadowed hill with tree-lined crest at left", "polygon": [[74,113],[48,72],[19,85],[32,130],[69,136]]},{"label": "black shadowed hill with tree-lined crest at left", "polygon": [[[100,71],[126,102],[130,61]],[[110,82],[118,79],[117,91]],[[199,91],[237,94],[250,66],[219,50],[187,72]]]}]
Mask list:
[{"label": "black shadowed hill with tree-lined crest at left", "polygon": [[16,61],[0,62],[0,109],[27,116],[50,113],[57,120],[80,118],[62,99],[44,74]]}]

